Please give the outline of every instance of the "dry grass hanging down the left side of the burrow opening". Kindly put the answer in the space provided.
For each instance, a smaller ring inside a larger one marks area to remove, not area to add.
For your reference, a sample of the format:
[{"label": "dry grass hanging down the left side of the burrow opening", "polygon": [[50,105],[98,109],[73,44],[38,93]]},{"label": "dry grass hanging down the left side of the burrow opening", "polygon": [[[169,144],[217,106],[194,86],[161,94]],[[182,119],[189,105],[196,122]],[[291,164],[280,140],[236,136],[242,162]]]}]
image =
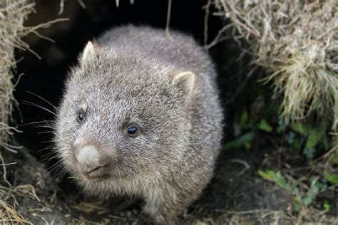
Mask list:
[{"label": "dry grass hanging down the left side of the burrow opening", "polygon": [[13,92],[13,68],[15,67],[14,48],[29,49],[21,41],[27,33],[23,23],[25,17],[34,9],[34,4],[27,0],[0,1],[0,147],[12,150],[7,144],[14,127],[9,126],[9,120],[15,100]]}]

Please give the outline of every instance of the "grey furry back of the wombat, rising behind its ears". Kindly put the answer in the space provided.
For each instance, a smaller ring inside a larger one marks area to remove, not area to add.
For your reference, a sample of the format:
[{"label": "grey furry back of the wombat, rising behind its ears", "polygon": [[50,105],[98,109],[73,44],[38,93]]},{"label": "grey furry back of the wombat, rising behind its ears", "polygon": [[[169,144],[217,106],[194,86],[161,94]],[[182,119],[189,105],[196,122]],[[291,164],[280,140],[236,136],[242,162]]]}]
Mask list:
[{"label": "grey furry back of the wombat, rising behind its ears", "polygon": [[140,54],[147,60],[155,58],[163,64],[173,65],[195,74],[208,73],[215,78],[210,58],[195,40],[176,31],[170,36],[163,29],[148,26],[121,26],[113,28],[98,39],[98,43],[109,46],[118,53]]}]

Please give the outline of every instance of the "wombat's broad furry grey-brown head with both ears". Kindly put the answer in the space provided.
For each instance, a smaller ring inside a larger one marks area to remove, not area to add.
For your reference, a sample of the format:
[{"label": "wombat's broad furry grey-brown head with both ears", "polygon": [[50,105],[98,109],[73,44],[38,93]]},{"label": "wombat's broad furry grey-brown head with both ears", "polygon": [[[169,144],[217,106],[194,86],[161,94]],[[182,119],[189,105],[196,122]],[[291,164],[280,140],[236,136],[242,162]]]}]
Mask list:
[{"label": "wombat's broad furry grey-brown head with both ears", "polygon": [[161,174],[188,150],[195,75],[89,42],[56,119],[63,164],[88,182]]}]

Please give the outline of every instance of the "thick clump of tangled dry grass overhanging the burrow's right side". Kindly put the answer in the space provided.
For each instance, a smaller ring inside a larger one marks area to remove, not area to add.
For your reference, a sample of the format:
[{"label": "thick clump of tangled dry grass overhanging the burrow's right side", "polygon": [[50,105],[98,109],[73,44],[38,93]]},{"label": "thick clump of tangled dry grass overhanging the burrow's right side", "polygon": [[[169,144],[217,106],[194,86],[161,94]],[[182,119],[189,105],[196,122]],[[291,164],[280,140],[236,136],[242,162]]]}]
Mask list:
[{"label": "thick clump of tangled dry grass overhanging the burrow's right side", "polygon": [[283,96],[282,117],[338,127],[338,1],[215,0]]}]

